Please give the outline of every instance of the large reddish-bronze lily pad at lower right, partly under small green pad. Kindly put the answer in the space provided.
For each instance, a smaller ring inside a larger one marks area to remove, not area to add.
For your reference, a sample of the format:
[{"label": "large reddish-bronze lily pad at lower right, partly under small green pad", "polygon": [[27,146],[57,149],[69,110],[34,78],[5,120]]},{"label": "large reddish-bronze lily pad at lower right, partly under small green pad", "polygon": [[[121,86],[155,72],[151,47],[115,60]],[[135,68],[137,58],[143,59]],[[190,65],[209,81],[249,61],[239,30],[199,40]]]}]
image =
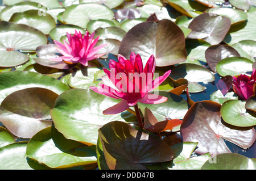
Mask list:
[{"label": "large reddish-bronze lily pad at lower right, partly under small green pad", "polygon": [[[237,101],[237,100],[228,100]],[[223,105],[223,104],[222,104]],[[230,112],[228,112],[230,114]],[[231,113],[232,114],[232,113]],[[183,141],[198,142],[196,153],[218,155],[231,153],[225,140],[240,146],[243,149],[253,145],[255,129],[239,129],[221,121],[221,104],[210,100],[196,102],[184,116],[180,127]]]}]

